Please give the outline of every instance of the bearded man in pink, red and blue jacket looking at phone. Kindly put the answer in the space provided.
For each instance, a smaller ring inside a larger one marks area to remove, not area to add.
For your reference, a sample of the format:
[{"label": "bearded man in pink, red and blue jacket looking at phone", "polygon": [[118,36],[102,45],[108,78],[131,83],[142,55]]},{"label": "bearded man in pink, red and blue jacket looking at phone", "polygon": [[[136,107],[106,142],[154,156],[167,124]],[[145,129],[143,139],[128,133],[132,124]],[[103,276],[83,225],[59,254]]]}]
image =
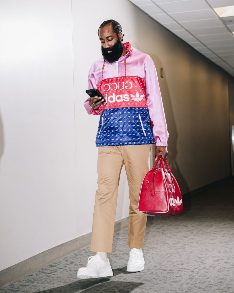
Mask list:
[{"label": "bearded man in pink, red and blue jacket looking at phone", "polygon": [[102,57],[89,72],[89,89],[97,88],[101,97],[88,98],[88,114],[101,115],[96,137],[98,149],[98,189],[95,196],[90,251],[79,278],[112,276],[107,253],[112,251],[118,184],[123,164],[128,178],[130,211],[128,272],[144,269],[142,253],[147,215],[138,211],[138,197],[149,171],[151,144],[155,155],[167,152],[167,125],[154,63],[149,55],[135,52],[123,42],[121,25],[104,21],[98,30]]}]

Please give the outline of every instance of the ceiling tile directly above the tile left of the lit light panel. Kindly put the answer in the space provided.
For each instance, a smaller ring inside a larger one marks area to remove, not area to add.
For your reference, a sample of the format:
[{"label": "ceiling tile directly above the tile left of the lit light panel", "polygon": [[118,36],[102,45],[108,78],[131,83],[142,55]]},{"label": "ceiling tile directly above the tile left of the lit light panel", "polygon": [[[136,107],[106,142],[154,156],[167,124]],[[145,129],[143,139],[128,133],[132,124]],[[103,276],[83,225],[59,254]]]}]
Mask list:
[{"label": "ceiling tile directly above the tile left of the lit light panel", "polygon": [[169,3],[159,3],[158,6],[166,13],[178,13],[185,11],[210,9],[209,5],[204,0],[187,0]]}]

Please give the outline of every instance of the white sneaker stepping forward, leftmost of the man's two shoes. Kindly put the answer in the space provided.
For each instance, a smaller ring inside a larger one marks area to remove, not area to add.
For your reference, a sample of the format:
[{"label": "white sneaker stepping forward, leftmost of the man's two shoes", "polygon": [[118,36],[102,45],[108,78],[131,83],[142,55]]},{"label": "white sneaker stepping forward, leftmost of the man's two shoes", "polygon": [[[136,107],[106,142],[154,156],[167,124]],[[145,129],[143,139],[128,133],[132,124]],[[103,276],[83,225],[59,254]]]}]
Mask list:
[{"label": "white sneaker stepping forward, leftmost of the man's two shoes", "polygon": [[111,277],[113,271],[109,259],[107,263],[101,259],[100,255],[93,255],[88,258],[88,263],[85,268],[79,268],[77,277],[80,279]]}]

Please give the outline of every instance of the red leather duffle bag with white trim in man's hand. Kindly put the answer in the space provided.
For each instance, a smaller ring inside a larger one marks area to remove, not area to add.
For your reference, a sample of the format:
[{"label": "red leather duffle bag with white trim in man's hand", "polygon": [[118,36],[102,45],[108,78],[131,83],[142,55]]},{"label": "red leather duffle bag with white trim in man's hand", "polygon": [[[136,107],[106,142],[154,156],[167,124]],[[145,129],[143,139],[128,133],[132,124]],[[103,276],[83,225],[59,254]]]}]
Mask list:
[{"label": "red leather duffle bag with white trim in man's hand", "polygon": [[[164,166],[166,163],[166,167]],[[157,164],[159,163],[159,168]],[[183,211],[183,202],[179,185],[171,173],[167,160],[162,156],[143,179],[138,210],[154,216],[173,216]]]}]

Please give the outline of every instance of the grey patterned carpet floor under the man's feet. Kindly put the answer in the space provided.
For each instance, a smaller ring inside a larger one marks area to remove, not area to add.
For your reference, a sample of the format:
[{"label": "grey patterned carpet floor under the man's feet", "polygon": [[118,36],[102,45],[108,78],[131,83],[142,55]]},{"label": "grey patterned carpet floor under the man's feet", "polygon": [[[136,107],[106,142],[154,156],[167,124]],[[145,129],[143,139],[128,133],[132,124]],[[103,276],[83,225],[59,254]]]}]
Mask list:
[{"label": "grey patterned carpet floor under the man's feet", "polygon": [[173,217],[148,216],[144,240],[145,268],[128,273],[127,229],[114,235],[108,255],[113,277],[78,279],[79,267],[92,255],[77,251],[1,293],[233,293],[234,179],[183,198],[184,212]]}]

